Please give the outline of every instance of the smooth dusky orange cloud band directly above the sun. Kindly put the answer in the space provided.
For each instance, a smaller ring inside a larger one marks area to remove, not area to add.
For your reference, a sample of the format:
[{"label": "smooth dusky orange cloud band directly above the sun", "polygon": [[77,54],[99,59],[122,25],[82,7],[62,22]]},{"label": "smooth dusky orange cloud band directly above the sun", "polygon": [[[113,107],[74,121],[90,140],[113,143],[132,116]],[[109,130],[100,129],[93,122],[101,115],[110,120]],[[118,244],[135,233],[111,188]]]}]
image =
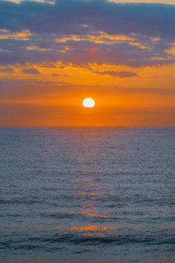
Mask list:
[{"label": "smooth dusky orange cloud band directly above the sun", "polygon": [[[171,98],[175,97],[175,89],[171,88],[131,88],[131,87],[118,87],[117,85],[108,86],[108,85],[97,85],[97,84],[71,84],[66,82],[57,82],[57,81],[46,81],[46,80],[1,80],[0,81],[0,98],[6,101],[10,100],[19,100],[31,98],[58,98],[64,96],[75,96],[80,94],[82,91],[89,91],[89,93],[100,94],[100,96],[145,96],[145,95],[155,95],[165,98],[169,96]],[[25,89],[24,89],[25,87]],[[37,88],[36,88],[37,87]]]}]

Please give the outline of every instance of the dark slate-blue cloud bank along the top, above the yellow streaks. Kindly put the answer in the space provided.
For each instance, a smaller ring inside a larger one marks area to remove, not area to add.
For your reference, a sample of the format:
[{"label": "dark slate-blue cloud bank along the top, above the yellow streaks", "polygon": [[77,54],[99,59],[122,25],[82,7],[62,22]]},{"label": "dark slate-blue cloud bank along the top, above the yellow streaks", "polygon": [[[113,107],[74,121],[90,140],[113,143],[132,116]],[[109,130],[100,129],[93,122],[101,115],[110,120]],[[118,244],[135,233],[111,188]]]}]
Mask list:
[{"label": "dark slate-blue cloud bank along the top, above the yellow streaks", "polygon": [[175,6],[170,5],[117,4],[105,0],[56,0],[55,5],[31,1],[0,3],[1,28],[15,31],[81,35],[104,30],[109,34],[136,33],[174,39],[174,24]]}]

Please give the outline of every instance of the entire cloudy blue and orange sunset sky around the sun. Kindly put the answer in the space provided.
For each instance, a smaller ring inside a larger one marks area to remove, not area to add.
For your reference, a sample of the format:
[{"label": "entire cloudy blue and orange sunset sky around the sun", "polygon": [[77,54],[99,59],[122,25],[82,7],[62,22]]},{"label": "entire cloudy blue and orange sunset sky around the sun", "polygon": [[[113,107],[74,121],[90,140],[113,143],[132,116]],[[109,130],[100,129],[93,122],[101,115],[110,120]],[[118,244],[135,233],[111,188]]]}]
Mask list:
[{"label": "entire cloudy blue and orange sunset sky around the sun", "polygon": [[174,24],[175,0],[0,1],[0,126],[174,126]]}]

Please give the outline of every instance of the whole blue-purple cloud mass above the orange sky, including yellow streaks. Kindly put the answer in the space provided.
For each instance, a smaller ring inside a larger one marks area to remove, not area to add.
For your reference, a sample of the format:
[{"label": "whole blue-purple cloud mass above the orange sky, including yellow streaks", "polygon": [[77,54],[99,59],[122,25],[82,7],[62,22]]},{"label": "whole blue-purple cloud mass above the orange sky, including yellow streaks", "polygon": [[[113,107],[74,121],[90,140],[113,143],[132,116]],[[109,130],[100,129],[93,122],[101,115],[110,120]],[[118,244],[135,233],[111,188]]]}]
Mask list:
[{"label": "whole blue-purple cloud mass above the orange sky, including yellow streaks", "polygon": [[[175,6],[169,5],[119,4],[106,0],[56,0],[55,4],[1,1],[0,28],[9,32],[0,31],[0,35],[11,34],[11,38],[0,37],[0,63],[59,60],[77,65],[93,62],[128,66],[169,64],[175,61],[166,53],[175,39],[174,24]],[[22,30],[27,30],[24,31],[27,38],[15,38],[14,33]],[[107,37],[99,43],[82,37],[98,37],[101,31],[136,40],[123,39],[109,44]],[[78,35],[82,39],[55,40],[67,35]],[[154,37],[161,39],[153,41]]]}]

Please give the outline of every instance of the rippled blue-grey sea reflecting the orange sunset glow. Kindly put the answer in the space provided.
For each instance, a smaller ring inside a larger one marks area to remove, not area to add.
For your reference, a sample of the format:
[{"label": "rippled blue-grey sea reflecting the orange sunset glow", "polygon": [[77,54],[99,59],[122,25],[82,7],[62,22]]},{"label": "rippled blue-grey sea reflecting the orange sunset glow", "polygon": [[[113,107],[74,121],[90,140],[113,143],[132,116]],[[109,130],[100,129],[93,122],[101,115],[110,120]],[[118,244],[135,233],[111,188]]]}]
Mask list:
[{"label": "rippled blue-grey sea reflecting the orange sunset glow", "polygon": [[0,262],[175,262],[175,127],[1,127]]}]

